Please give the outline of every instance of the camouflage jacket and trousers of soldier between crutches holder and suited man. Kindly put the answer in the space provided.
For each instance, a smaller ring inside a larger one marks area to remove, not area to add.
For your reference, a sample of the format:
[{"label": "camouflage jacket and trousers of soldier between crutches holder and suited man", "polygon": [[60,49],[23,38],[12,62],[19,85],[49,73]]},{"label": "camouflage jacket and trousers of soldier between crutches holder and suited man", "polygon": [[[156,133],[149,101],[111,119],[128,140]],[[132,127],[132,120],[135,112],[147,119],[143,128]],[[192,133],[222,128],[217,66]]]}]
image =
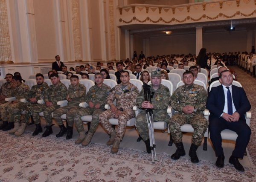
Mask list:
[{"label": "camouflage jacket and trousers of soldier between crutches holder and suited man", "polygon": [[[182,133],[180,127],[183,124],[192,124],[194,133],[192,135],[192,144],[201,145],[204,133],[207,130],[209,122],[204,118],[204,109],[206,107],[207,91],[204,87],[192,84],[190,86],[180,86],[171,96],[170,105],[179,113],[172,116],[169,121],[169,129],[174,143],[182,142]],[[197,110],[192,114],[186,114],[182,108],[191,105]]]}]

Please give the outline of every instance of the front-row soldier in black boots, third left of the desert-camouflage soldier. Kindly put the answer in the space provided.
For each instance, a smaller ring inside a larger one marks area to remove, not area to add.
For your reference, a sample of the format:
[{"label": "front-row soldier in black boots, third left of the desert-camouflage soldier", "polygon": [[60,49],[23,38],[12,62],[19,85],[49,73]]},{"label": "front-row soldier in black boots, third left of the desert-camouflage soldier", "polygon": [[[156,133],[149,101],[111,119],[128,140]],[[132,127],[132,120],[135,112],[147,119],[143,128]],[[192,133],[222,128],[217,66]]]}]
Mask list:
[{"label": "front-row soldier in black boots, third left of the desert-camouflage soldier", "polygon": [[43,137],[47,137],[52,134],[52,112],[58,109],[60,106],[57,104],[58,101],[66,99],[67,87],[60,82],[57,73],[50,75],[52,85],[44,94],[45,104],[35,105],[31,107],[31,113],[35,124],[40,123],[39,113],[44,112],[44,118],[46,121],[46,130]]}]

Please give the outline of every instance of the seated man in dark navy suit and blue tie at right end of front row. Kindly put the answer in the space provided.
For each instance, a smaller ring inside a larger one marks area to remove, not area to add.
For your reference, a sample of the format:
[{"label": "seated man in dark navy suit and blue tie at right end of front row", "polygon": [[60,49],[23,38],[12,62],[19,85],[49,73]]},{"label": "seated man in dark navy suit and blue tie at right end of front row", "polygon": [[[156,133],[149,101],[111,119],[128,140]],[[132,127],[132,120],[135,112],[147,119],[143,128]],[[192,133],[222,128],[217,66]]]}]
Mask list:
[{"label": "seated man in dark navy suit and blue tie at right end of front row", "polygon": [[224,166],[221,131],[229,129],[238,134],[229,163],[233,164],[237,170],[244,171],[238,158],[244,157],[244,151],[250,140],[251,130],[244,117],[244,114],[251,108],[250,102],[243,88],[232,85],[233,75],[229,70],[222,71],[219,77],[221,85],[212,88],[206,104],[206,108],[210,111],[210,138],[216,156],[218,156],[215,165],[219,168]]}]

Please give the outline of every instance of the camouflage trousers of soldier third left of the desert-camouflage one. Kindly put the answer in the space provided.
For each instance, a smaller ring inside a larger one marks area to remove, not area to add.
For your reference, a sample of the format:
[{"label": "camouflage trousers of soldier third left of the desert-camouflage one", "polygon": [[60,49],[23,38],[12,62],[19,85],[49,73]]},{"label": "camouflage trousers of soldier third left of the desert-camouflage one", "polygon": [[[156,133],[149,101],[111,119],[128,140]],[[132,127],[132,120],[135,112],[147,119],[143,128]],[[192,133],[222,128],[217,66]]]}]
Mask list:
[{"label": "camouflage trousers of soldier third left of the desert-camouflage one", "polygon": [[31,113],[32,113],[33,119],[35,121],[35,124],[40,123],[39,113],[44,112],[44,118],[45,118],[45,121],[46,121],[46,125],[47,126],[52,125],[52,112],[54,112],[59,107],[60,106],[57,105],[57,104],[53,104],[50,107],[47,107],[46,104],[32,105]]}]

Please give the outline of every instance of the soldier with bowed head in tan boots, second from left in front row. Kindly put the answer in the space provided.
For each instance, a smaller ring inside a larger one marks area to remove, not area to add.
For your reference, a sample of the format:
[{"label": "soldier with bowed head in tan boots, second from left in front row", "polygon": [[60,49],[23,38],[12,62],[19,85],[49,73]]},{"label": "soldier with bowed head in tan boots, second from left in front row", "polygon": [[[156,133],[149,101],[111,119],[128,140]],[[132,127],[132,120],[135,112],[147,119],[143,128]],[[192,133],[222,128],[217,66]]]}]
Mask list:
[{"label": "soldier with bowed head in tan boots, second from left in front row", "polygon": [[15,108],[21,111],[26,109],[26,104],[20,102],[20,99],[26,98],[29,92],[29,86],[22,83],[22,78],[20,75],[15,75],[12,77],[12,79],[13,89],[11,91],[11,96],[15,97],[15,100],[1,104],[0,110],[3,121],[9,121],[9,124],[3,128],[3,131],[11,130],[13,128],[13,130],[9,131],[9,133],[14,134],[20,127],[20,117],[15,117]]}]

